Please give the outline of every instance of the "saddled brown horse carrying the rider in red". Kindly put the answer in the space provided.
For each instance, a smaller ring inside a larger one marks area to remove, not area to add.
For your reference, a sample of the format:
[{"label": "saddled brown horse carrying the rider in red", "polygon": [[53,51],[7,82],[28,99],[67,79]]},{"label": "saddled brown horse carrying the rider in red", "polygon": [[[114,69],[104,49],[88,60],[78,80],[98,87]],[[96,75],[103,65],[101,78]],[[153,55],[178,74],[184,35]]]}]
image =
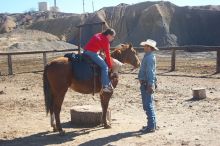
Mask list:
[{"label": "saddled brown horse carrying the rider in red", "polygon": [[[132,45],[122,44],[120,48],[115,49],[111,56],[122,63],[128,63],[135,68],[140,66],[140,61],[137,57],[137,53]],[[114,87],[118,83],[118,76],[110,77]],[[96,77],[96,90],[95,93],[100,92],[101,106],[102,106],[102,122],[105,128],[110,128],[110,125],[106,120],[106,112],[108,109],[108,103],[112,93],[104,93],[101,91],[100,77]],[[60,111],[64,100],[64,96],[68,88],[73,89],[76,92],[83,94],[93,93],[93,79],[88,81],[79,81],[74,78],[71,62],[66,57],[59,57],[54,59],[44,68],[43,74],[43,87],[45,97],[46,113],[50,112],[51,126],[54,131],[63,133],[60,124]],[[54,122],[54,116],[56,124]]]}]

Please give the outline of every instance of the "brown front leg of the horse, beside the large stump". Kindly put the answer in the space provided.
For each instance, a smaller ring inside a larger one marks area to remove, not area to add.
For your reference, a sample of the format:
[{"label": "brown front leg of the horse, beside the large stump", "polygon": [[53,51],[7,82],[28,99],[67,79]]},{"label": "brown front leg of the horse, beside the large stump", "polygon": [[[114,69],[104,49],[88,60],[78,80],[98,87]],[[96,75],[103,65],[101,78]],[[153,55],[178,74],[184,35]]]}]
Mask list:
[{"label": "brown front leg of the horse, beside the large stump", "polygon": [[102,105],[102,122],[104,124],[104,128],[106,129],[111,128],[111,126],[107,123],[107,118],[106,118],[110,97],[111,95],[108,95],[106,93],[100,94],[101,105]]}]

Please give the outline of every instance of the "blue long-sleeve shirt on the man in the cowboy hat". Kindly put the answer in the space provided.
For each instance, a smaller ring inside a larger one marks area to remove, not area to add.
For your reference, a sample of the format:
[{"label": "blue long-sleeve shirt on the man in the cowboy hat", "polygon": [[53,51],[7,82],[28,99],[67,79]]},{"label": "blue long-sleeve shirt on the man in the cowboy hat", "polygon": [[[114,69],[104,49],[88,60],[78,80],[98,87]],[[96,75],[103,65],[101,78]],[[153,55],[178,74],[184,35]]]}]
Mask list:
[{"label": "blue long-sleeve shirt on the man in the cowboy hat", "polygon": [[156,57],[154,53],[145,53],[141,62],[141,67],[138,73],[138,79],[146,81],[148,85],[153,86],[156,78]]}]

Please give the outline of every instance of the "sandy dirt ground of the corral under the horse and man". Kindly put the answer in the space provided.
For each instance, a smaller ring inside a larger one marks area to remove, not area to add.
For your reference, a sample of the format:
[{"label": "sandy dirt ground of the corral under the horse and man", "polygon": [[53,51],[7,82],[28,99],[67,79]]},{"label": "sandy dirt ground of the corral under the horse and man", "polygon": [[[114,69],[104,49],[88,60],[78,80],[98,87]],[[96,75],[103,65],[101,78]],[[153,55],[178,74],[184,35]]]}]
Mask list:
[{"label": "sandy dirt ground of the corral under the horse and man", "polygon": [[[185,61],[184,61],[185,60]],[[186,61],[187,60],[187,61]],[[142,135],[146,125],[142,109],[137,71],[125,66],[110,100],[112,128],[83,128],[70,123],[70,108],[76,105],[98,105],[99,96],[83,95],[69,90],[61,112],[66,134],[52,132],[46,117],[42,89],[42,72],[0,76],[0,145],[81,145],[81,146],[145,146],[194,145],[219,146],[220,143],[220,75],[213,74],[215,60],[181,57],[177,71],[168,72],[169,58],[158,57],[158,85],[155,93],[158,130]],[[186,63],[188,62],[188,63]],[[18,63],[21,65],[22,63]],[[1,70],[7,71],[4,62]],[[4,66],[3,66],[4,65]],[[30,71],[41,65],[23,67]],[[17,69],[16,69],[17,68]],[[26,71],[25,71],[26,72]],[[205,87],[207,98],[192,101],[194,87]]]}]

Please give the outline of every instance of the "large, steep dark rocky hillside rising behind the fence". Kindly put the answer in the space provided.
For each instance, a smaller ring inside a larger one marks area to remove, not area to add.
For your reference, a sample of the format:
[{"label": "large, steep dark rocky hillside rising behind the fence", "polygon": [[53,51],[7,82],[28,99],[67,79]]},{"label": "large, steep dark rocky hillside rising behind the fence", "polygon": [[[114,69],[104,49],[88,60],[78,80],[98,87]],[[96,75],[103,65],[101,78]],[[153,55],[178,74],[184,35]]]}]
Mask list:
[{"label": "large, steep dark rocky hillside rising behind the fence", "polygon": [[[170,2],[143,2],[105,7],[90,14],[72,14],[56,19],[35,21],[29,28],[46,31],[62,40],[78,44],[79,24],[105,21],[113,27],[117,38],[113,45],[132,42],[138,45],[147,38],[155,39],[159,46],[220,45],[220,6],[178,7]],[[82,30],[82,44],[100,26]]]}]

